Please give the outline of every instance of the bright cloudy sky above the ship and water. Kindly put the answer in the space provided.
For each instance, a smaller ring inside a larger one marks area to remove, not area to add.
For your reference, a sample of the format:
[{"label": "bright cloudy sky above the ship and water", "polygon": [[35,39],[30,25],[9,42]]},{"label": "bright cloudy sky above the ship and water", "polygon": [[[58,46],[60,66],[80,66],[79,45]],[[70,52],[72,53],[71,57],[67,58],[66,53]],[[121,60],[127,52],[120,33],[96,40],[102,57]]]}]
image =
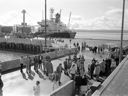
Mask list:
[{"label": "bright cloudy sky above the ship and water", "polygon": [[[62,9],[62,21],[68,23],[72,12],[71,27],[80,29],[116,29],[121,25],[123,0],[47,0],[47,11]],[[128,0],[126,0],[125,28],[128,27]],[[0,24],[22,22],[22,9],[27,11],[26,21],[36,25],[42,19],[44,0],[0,0]],[[49,14],[48,14],[49,18]]]}]

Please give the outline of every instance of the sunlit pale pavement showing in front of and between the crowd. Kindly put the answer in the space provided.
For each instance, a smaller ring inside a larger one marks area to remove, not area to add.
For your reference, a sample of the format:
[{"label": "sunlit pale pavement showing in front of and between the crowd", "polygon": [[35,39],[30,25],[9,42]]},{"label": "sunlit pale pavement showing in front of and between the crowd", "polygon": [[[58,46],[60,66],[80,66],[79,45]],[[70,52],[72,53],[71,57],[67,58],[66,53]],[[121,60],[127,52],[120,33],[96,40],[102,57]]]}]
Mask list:
[{"label": "sunlit pale pavement showing in front of and between the crowd", "polygon": [[[102,60],[103,58],[100,57],[100,55],[95,55],[89,51],[85,51],[81,53],[85,56],[85,69],[87,71],[88,64],[91,63],[92,58],[96,58],[98,60]],[[105,55],[103,56],[105,58]],[[59,58],[57,60],[53,60],[53,66],[54,70],[56,69],[57,65],[59,63],[62,63],[66,57]],[[33,69],[33,68],[32,68]],[[25,72],[25,70],[24,70]],[[47,96],[49,93],[53,91],[53,82],[46,79],[41,79],[37,74],[34,76],[34,79],[23,79],[20,71],[16,71],[13,73],[9,73],[2,76],[3,82],[4,82],[4,88],[3,88],[3,94],[4,96],[33,96],[33,86],[35,85],[35,82],[39,80],[41,82],[41,96]],[[67,81],[69,81],[69,77],[62,74],[62,84],[65,84]],[[56,85],[55,88],[58,88]]]}]

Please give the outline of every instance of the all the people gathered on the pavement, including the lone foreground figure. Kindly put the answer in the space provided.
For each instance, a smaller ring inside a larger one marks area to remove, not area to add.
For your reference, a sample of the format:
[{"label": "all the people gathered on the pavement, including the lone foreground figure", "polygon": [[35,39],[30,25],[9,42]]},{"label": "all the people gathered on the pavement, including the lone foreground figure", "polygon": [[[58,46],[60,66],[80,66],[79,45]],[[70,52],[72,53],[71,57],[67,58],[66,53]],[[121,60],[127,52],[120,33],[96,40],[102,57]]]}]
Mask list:
[{"label": "all the people gathered on the pavement, including the lone foreground figure", "polygon": [[[86,42],[82,42],[81,45],[79,43],[74,43],[74,47],[76,47],[78,51],[82,52],[86,50],[86,47],[88,46]],[[90,49],[90,51],[92,51],[93,53],[102,53],[102,51],[104,50],[103,48],[96,46]],[[42,76],[44,80],[46,79],[44,78],[46,76],[49,80],[57,82],[59,86],[62,84],[61,75],[62,72],[64,72],[66,76],[68,76],[71,80],[75,81],[75,92],[79,94],[81,86],[87,86],[90,79],[102,82],[103,79],[100,77],[109,76],[111,72],[113,72],[113,70],[118,66],[118,64],[119,61],[113,55],[103,59],[102,62],[99,62],[98,60],[93,58],[91,64],[88,65],[88,72],[86,73],[85,57],[83,55],[78,56],[78,54],[74,54],[73,57],[69,55],[63,63],[59,63],[54,71],[50,56],[21,56],[20,72],[22,74],[27,73],[28,78],[31,75],[34,76],[35,73],[32,71],[33,66],[34,71],[38,75],[40,75],[40,73],[43,73]],[[24,68],[25,71],[23,70]],[[26,78],[26,80],[28,80],[28,78]],[[37,81],[36,86],[34,86],[33,88],[35,96],[39,96],[39,85],[40,82]],[[3,85],[0,85],[0,87],[1,86],[3,87]]]}]

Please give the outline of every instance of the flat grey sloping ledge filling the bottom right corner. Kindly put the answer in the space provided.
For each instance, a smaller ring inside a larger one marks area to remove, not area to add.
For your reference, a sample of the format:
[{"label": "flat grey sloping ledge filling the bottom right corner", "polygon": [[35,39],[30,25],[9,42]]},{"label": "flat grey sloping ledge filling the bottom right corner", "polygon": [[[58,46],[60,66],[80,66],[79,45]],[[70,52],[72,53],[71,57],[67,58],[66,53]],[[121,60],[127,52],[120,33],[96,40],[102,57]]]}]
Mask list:
[{"label": "flat grey sloping ledge filling the bottom right corner", "polygon": [[92,96],[128,96],[128,56]]}]

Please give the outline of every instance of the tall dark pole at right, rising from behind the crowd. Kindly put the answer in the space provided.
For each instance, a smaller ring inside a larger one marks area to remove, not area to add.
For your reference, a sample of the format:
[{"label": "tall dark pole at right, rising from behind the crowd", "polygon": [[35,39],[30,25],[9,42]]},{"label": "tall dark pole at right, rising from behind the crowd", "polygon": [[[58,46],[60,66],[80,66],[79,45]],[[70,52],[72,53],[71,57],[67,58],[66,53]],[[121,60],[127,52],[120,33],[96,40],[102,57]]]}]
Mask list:
[{"label": "tall dark pole at right, rising from behind the crowd", "polygon": [[121,42],[120,42],[119,63],[122,61],[122,57],[123,57],[124,13],[125,13],[125,0],[123,0],[123,10],[122,10],[122,26],[121,26]]}]

